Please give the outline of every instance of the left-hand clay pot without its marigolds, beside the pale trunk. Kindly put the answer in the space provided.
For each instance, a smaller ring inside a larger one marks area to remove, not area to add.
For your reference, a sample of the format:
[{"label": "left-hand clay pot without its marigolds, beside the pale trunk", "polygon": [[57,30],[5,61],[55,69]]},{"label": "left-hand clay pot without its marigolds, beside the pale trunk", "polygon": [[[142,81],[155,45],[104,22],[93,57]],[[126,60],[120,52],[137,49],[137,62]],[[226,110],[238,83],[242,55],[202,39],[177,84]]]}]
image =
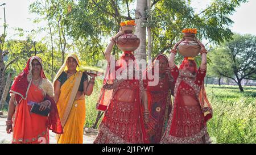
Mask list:
[{"label": "left-hand clay pot without its marigolds, beside the pale trunk", "polygon": [[117,47],[121,51],[135,51],[139,47],[140,40],[133,34],[134,26],[122,26],[123,35],[117,38]]}]

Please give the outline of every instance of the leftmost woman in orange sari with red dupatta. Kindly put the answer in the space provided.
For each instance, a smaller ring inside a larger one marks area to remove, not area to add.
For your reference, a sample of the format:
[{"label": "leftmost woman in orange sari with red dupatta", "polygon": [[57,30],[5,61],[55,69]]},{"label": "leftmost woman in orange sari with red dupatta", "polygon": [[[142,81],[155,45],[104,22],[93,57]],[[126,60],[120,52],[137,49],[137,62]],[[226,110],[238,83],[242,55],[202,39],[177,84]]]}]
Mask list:
[{"label": "leftmost woman in orange sari with red dupatta", "polygon": [[[53,86],[44,75],[39,57],[32,56],[28,60],[26,68],[15,78],[10,93],[6,131],[13,132],[12,143],[49,143],[49,129],[63,133],[53,100]],[[49,115],[30,112],[33,104],[39,104],[41,111],[51,108]]]}]

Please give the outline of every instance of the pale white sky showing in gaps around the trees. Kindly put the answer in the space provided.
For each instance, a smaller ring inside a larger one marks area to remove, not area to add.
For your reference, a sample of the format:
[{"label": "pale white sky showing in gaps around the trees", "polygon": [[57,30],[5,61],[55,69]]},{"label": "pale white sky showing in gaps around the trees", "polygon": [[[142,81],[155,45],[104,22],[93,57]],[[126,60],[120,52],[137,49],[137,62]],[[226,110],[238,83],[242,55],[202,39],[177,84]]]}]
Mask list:
[{"label": "pale white sky showing in gaps around the trees", "polygon": [[[35,30],[36,27],[44,26],[44,23],[38,25],[32,23],[32,19],[36,15],[31,14],[28,10],[30,3],[35,0],[0,0],[0,5],[6,3],[5,6],[0,6],[0,33],[3,32],[3,7],[6,11],[6,23],[7,28],[7,37],[6,39],[20,39],[18,35],[15,35],[17,31],[15,28],[22,28],[24,31],[30,32]],[[196,11],[204,9],[209,5],[212,0],[192,0],[192,6],[196,8]],[[256,1],[249,0],[247,3],[243,3],[240,7],[237,8],[237,11],[234,12],[230,18],[234,21],[230,29],[236,33],[251,33],[256,35]],[[36,41],[44,37],[46,33],[42,33],[36,37]]]}]

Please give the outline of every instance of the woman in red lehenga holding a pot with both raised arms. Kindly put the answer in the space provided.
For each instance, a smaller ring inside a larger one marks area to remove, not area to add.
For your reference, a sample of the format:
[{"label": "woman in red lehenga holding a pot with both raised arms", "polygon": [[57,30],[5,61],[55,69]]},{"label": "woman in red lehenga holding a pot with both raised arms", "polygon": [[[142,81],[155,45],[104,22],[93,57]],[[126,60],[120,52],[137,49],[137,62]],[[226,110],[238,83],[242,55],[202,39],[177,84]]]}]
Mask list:
[{"label": "woman in red lehenga holding a pot with both raised arms", "polygon": [[212,118],[212,107],[204,90],[207,51],[197,40],[201,46],[200,68],[197,70],[193,58],[184,58],[178,69],[174,57],[179,43],[175,44],[169,58],[175,80],[174,106],[160,143],[210,143],[207,121]]}]

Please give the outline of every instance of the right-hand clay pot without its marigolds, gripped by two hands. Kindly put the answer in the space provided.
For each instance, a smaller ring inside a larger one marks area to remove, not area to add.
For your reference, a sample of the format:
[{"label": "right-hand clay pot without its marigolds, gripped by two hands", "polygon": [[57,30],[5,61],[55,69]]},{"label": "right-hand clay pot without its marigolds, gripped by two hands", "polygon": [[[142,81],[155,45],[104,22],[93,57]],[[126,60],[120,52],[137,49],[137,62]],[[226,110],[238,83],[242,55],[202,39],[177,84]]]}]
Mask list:
[{"label": "right-hand clay pot without its marigolds, gripped by two hands", "polygon": [[200,53],[200,45],[195,40],[195,33],[184,33],[185,40],[182,41],[177,51],[184,57],[196,57]]}]

